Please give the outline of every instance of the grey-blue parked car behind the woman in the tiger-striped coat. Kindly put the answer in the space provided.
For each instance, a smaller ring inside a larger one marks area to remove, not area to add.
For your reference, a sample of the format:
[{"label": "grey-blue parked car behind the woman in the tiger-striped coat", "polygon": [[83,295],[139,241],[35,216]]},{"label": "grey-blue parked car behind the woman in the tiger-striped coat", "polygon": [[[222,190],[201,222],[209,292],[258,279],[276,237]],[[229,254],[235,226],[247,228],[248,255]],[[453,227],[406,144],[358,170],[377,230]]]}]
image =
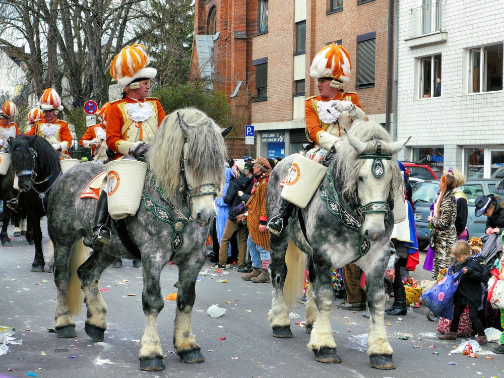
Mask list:
[{"label": "grey-blue parked car behind the woman in the tiger-striped coat", "polygon": [[[495,184],[499,182],[494,178],[468,178],[461,186],[467,196],[467,231],[469,236],[481,236],[485,233],[486,217],[474,216],[474,202],[484,195],[495,194]],[[427,225],[427,217],[430,215],[430,205],[436,198],[439,190],[439,180],[426,180],[412,182],[412,200],[415,205],[415,226],[418,238],[418,248],[424,249],[429,244],[430,230]]]}]

